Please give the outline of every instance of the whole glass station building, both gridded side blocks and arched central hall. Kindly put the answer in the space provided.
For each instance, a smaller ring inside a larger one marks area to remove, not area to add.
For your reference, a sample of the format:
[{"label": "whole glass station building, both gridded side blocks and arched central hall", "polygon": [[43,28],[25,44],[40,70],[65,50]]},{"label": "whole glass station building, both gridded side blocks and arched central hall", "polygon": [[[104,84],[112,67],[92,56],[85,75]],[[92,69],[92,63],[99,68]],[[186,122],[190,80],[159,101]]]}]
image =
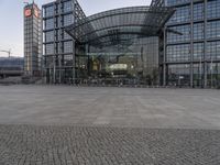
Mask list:
[{"label": "whole glass station building, both gridded side blocks and arched central hall", "polygon": [[152,0],[90,16],[59,0],[43,15],[48,82],[219,86],[219,0]]}]

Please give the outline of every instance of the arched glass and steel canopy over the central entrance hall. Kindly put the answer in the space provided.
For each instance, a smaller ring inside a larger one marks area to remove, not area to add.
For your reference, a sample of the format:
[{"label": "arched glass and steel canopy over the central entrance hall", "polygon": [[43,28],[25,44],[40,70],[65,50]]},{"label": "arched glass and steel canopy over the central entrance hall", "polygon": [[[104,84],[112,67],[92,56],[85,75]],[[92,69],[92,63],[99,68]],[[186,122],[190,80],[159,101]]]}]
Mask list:
[{"label": "arched glass and steel canopy over the central entrance hall", "polygon": [[154,36],[173,15],[173,8],[130,7],[87,16],[66,29],[78,43],[102,44],[120,41],[124,34]]}]

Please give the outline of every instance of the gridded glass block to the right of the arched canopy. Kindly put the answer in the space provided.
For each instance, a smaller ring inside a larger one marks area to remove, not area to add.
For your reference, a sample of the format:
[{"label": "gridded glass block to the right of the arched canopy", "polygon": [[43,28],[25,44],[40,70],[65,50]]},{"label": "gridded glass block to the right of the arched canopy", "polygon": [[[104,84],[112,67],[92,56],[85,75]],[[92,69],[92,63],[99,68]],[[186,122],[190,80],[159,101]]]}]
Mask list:
[{"label": "gridded glass block to the right of the arched canopy", "polygon": [[164,0],[176,12],[166,24],[164,85],[191,87],[220,82],[220,1]]}]

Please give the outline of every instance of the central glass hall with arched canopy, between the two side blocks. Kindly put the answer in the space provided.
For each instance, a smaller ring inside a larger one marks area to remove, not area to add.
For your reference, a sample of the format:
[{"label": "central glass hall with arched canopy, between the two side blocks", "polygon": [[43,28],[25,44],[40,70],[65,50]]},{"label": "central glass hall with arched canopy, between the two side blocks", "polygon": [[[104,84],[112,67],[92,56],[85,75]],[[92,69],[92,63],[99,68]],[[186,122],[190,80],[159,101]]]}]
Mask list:
[{"label": "central glass hall with arched canopy, between the two side blocks", "polygon": [[158,85],[163,28],[173,8],[130,7],[86,16],[66,28],[74,38],[73,81]]}]

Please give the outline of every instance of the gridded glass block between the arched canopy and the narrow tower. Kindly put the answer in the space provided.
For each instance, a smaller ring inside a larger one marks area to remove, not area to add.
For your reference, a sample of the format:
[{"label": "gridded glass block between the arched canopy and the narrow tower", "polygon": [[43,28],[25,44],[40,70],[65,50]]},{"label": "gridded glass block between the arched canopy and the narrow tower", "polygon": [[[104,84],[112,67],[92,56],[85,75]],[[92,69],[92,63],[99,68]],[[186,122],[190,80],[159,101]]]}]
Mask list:
[{"label": "gridded glass block between the arched canopy and the narrow tower", "polygon": [[76,0],[56,0],[42,7],[46,81],[65,84],[74,73],[74,40],[65,28],[86,18]]}]

